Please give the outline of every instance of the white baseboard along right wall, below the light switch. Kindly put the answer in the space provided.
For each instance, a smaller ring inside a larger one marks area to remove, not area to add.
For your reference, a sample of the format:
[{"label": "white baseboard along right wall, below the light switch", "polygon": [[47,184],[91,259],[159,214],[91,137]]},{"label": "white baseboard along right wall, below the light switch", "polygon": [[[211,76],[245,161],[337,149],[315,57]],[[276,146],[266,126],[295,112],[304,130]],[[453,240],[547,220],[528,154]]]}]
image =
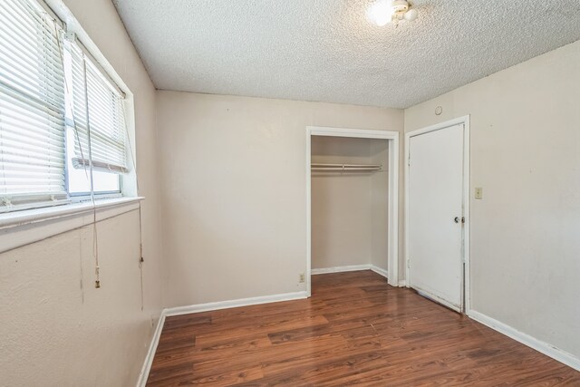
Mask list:
[{"label": "white baseboard along right wall, below the light switch", "polygon": [[491,329],[498,331],[500,334],[505,334],[507,337],[511,337],[517,342],[523,343],[528,347],[535,349],[539,353],[544,353],[546,356],[549,356],[560,363],[564,363],[565,365],[574,368],[576,371],[580,371],[580,358],[575,357],[575,355],[556,348],[554,345],[538,340],[529,334],[519,332],[516,328],[501,323],[486,314],[481,314],[474,310],[470,310],[468,315],[478,323],[487,325]]}]

